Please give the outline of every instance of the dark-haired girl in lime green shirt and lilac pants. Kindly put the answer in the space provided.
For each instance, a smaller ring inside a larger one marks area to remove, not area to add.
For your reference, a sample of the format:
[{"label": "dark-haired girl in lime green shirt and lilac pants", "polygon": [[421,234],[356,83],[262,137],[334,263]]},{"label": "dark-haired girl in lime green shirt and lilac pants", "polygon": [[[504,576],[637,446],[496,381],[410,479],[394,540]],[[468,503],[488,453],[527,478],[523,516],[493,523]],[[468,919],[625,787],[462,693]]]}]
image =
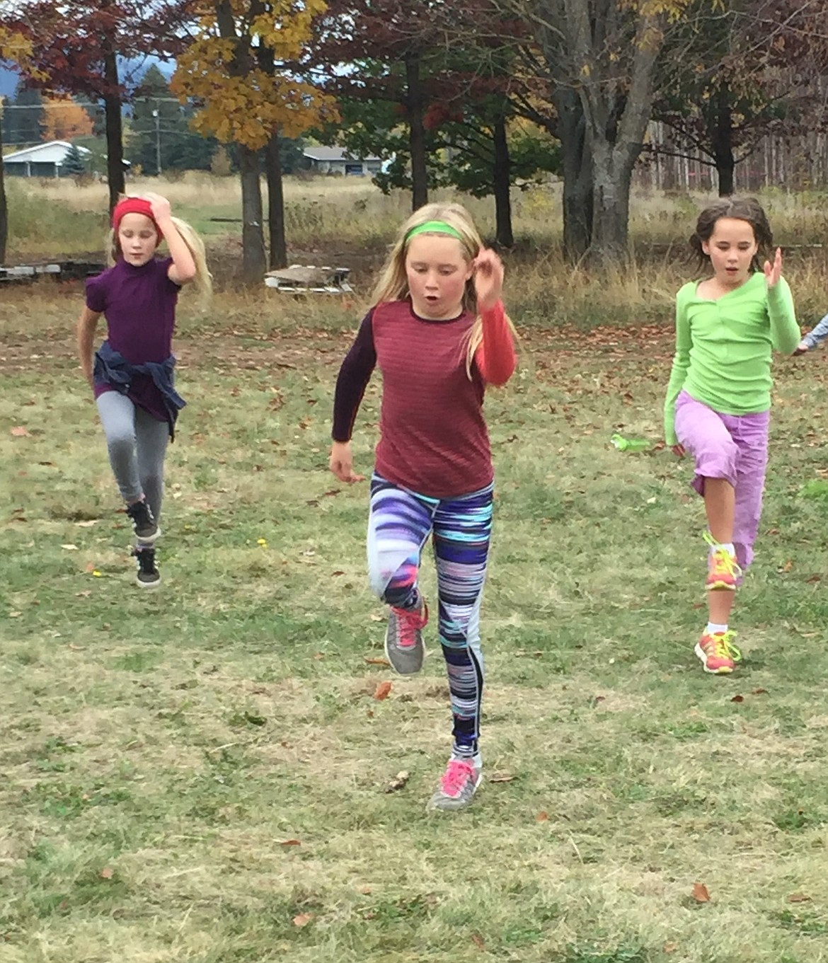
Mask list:
[{"label": "dark-haired girl in lime green shirt and lilac pants", "polygon": [[695,647],[706,672],[741,658],[729,629],[737,586],[753,559],[762,514],[772,351],[790,354],[800,332],[782,252],[754,198],[725,197],[704,210],[690,244],[712,276],[676,298],[676,354],[664,403],[664,437],[695,460],[710,544],[709,621]]}]

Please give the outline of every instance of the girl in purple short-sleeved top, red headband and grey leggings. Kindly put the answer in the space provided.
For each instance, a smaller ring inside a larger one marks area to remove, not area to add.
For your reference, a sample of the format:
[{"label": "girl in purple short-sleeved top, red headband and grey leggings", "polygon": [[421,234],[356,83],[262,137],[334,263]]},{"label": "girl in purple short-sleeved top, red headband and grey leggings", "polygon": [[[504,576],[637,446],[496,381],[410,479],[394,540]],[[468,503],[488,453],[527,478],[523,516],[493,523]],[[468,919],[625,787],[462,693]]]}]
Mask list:
[{"label": "girl in purple short-sleeved top, red headband and grey leggings", "polygon": [[[210,273],[203,243],[188,223],[172,217],[166,197],[124,197],[112,226],[113,267],[87,282],[78,353],[136,534],[138,585],[151,588],[161,582],[155,540],[161,534],[164,457],[184,406],[172,384],[175,305],[182,286],[191,282],[209,294]],[[156,258],[162,240],[169,256]],[[101,315],[107,339],[93,356]]]}]

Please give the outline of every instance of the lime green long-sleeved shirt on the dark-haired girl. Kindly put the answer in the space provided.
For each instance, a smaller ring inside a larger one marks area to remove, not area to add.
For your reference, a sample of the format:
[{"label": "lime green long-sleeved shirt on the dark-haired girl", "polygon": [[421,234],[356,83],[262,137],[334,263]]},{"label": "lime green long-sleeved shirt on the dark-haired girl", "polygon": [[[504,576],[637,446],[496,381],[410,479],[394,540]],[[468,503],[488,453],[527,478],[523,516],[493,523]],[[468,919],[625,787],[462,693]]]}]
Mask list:
[{"label": "lime green long-sleeved shirt on the dark-haired girl", "polygon": [[714,411],[755,414],[770,407],[772,351],[799,344],[793,297],[784,277],[768,290],[762,272],[721,298],[696,294],[690,281],[676,296],[676,355],[664,401],[664,440],[678,443],[676,399],[685,391]]}]

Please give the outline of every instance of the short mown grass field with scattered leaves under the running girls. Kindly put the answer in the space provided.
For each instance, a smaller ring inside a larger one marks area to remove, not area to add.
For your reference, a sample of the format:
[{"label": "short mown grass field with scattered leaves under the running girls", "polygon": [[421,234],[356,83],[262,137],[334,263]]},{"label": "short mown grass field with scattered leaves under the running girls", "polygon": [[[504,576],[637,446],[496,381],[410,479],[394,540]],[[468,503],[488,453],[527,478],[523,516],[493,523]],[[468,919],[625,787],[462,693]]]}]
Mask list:
[{"label": "short mown grass field with scattered leaves under the running girls", "polygon": [[513,311],[520,369],[486,401],[486,780],[453,816],[425,811],[442,660],[377,663],[366,487],[325,468],[355,305],[182,309],[165,584],[142,592],[73,357],[82,295],[0,293],[2,963],[828,960],[825,355],[777,361],[745,661],[706,676],[689,466],[608,443],[660,438],[663,273],[651,325],[606,290],[609,326]]}]

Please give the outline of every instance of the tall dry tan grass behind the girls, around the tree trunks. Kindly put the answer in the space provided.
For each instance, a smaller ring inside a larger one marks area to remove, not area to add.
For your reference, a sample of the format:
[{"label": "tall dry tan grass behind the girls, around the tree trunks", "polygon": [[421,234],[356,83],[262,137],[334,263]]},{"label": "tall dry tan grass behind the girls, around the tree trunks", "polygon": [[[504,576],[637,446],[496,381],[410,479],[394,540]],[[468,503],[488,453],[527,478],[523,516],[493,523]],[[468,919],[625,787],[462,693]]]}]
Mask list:
[{"label": "tall dry tan grass behind the girls, around the tree trunks", "polygon": [[[13,179],[9,185],[11,237],[9,261],[102,250],[106,230],[107,188],[72,181]],[[171,181],[136,178],[131,193],[167,195],[176,214],[194,224],[213,252],[219,289],[238,275],[241,263],[241,189],[236,177],[198,171]],[[456,199],[439,191],[435,199]],[[484,237],[494,234],[490,198],[461,196]],[[516,246],[505,255],[508,298],[524,324],[630,325],[669,323],[677,288],[697,276],[686,239],[701,208],[712,195],[663,195],[636,191],[631,202],[633,257],[626,268],[596,271],[573,267],[561,256],[560,186],[515,191],[512,213]],[[814,193],[767,191],[763,204],[777,243],[785,250],[785,272],[793,287],[803,325],[828,310],[825,273],[828,209]],[[359,178],[285,180],[285,219],[289,257],[302,264],[338,263],[351,269],[356,289],[354,310],[361,309],[373,286],[389,242],[410,212],[405,192],[382,195]],[[324,324],[323,315],[340,318],[331,301],[284,301],[262,293],[251,314],[267,328],[286,324]],[[338,305],[341,307],[341,305]],[[346,312],[347,313],[347,312]],[[249,316],[249,315],[248,315]]]}]

